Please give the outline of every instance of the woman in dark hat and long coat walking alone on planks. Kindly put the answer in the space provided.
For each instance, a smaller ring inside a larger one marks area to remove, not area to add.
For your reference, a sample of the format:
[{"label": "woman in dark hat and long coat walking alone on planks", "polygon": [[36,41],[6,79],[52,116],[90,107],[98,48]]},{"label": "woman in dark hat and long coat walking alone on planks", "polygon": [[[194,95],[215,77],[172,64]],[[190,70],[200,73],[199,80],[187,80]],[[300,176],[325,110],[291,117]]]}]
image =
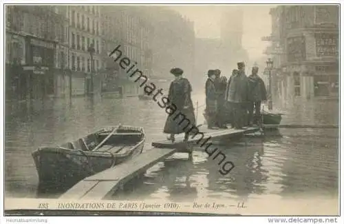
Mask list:
[{"label": "woman in dark hat and long coat walking alone on planks", "polygon": [[[175,76],[169,88],[169,107],[176,109],[169,113],[164,126],[164,133],[171,134],[169,140],[175,141],[175,134],[185,133],[184,141],[189,139],[189,130],[195,127],[195,113],[191,100],[191,84],[188,79],[182,77],[183,70],[180,68],[171,69]],[[167,110],[167,108],[166,108]]]}]

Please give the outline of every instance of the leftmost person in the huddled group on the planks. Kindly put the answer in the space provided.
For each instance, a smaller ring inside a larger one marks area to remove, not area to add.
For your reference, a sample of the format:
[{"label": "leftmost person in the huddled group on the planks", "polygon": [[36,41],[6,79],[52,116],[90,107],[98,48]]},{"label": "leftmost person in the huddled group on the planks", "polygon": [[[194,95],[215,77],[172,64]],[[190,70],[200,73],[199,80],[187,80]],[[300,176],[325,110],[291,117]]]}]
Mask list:
[{"label": "leftmost person in the huddled group on the planks", "polygon": [[215,89],[215,70],[208,70],[208,80],[206,81],[206,117],[209,129],[216,127],[217,119],[217,92]]}]

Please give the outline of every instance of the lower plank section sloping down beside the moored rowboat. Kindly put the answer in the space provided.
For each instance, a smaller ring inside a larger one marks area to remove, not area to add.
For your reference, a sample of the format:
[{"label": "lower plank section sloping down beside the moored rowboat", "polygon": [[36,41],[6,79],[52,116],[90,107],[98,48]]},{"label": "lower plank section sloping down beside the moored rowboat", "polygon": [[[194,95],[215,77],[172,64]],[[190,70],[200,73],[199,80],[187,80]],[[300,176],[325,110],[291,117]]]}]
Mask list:
[{"label": "lower plank section sloping down beside the moored rowboat", "polygon": [[149,167],[166,159],[176,152],[176,149],[156,149],[146,151],[133,159],[116,165],[113,168],[99,172],[80,181],[60,198],[78,198],[101,200],[113,194],[127,181],[146,172]]}]

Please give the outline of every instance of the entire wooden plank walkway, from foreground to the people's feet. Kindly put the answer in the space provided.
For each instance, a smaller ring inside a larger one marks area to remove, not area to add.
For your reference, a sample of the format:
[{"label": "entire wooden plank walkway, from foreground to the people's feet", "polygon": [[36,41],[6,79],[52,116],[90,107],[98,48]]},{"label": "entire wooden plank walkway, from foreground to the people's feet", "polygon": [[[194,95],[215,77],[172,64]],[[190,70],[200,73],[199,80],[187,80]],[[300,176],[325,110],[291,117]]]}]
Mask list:
[{"label": "entire wooden plank walkway, from foreground to the people's feet", "polygon": [[[200,128],[200,132],[204,133],[204,141],[209,137],[213,139],[230,138],[231,136],[257,132],[257,130],[258,128],[248,128],[246,130],[235,130],[231,128],[224,130],[208,130],[207,128]],[[111,169],[83,179],[83,181],[74,185],[60,198],[101,200],[114,194],[114,192],[127,183],[127,181],[146,172],[149,167],[163,161],[175,152],[189,152],[187,150],[185,151],[186,146],[197,143],[197,141],[200,140],[200,136],[200,134],[199,136],[195,136],[195,139],[191,137],[186,143],[183,142],[184,136],[178,136],[175,143],[167,140],[152,143],[152,145],[157,148],[135,156],[133,159],[116,165]],[[180,148],[181,145],[183,145],[182,148]]]}]

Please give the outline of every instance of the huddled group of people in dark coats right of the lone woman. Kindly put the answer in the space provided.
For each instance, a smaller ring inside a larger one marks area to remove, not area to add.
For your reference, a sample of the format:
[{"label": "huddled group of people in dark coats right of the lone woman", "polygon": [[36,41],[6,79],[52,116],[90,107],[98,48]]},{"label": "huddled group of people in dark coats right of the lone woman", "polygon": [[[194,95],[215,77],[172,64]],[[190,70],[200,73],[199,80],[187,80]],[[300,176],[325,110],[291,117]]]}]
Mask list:
[{"label": "huddled group of people in dark coats right of the lone woman", "polygon": [[[261,103],[266,101],[266,87],[254,66],[249,77],[245,74],[245,63],[237,63],[237,69],[227,81],[220,70],[208,70],[206,81],[206,120],[209,129],[246,129],[261,122]],[[255,110],[255,116],[253,116]]]}]

